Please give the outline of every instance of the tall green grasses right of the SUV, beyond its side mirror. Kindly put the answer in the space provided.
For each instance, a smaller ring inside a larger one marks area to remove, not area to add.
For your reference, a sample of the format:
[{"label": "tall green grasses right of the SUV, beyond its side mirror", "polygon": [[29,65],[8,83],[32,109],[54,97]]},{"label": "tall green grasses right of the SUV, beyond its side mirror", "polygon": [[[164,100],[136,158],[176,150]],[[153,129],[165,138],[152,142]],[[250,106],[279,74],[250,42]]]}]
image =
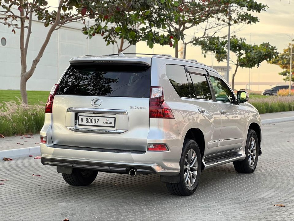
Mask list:
[{"label": "tall green grasses right of the SUV, beyond its side mirror", "polygon": [[294,96],[250,98],[248,102],[258,110],[259,114],[294,110]]}]

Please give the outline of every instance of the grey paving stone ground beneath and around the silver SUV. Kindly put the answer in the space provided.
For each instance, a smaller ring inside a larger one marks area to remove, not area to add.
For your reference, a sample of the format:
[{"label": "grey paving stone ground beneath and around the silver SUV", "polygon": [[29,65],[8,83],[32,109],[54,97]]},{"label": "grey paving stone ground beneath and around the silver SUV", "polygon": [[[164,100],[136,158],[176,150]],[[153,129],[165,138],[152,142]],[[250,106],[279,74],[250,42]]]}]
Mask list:
[{"label": "grey paving stone ground beneath and around the silver SUV", "polygon": [[0,179],[10,179],[0,185],[0,220],[294,220],[293,124],[263,126],[254,173],[232,163],[207,169],[188,197],[171,195],[157,175],[99,172],[76,187],[40,160],[0,161]]}]

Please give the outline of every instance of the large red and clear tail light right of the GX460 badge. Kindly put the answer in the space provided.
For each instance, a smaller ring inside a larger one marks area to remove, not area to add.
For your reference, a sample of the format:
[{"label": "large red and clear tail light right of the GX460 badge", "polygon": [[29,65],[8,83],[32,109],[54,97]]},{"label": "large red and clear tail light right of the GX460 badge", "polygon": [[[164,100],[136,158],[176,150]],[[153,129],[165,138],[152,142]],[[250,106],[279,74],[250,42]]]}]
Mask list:
[{"label": "large red and clear tail light right of the GX460 badge", "polygon": [[150,118],[174,118],[170,107],[164,102],[162,87],[151,87],[150,89]]}]

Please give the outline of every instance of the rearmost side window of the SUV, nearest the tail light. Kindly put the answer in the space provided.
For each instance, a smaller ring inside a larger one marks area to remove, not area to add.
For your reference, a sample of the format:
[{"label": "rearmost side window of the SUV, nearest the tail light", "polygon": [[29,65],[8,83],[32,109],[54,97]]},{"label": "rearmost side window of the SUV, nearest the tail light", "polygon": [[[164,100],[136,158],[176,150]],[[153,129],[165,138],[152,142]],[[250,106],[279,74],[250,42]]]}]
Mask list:
[{"label": "rearmost side window of the SUV, nearest the tail light", "polygon": [[191,97],[184,66],[167,64],[166,76],[180,97]]}]

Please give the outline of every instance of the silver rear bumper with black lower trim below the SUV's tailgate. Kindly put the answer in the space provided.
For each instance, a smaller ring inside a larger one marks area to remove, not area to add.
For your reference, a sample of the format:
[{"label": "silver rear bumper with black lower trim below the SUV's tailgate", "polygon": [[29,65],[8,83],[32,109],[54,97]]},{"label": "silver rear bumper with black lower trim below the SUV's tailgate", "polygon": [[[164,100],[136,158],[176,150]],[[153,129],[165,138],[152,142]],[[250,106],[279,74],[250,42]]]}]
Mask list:
[{"label": "silver rear bumper with black lower trim below the SUV's tailgate", "polygon": [[43,165],[79,169],[93,169],[101,172],[124,173],[136,168],[139,173],[155,173],[163,176],[177,176],[180,173],[179,151],[122,151],[81,148],[62,145],[40,144]]}]

